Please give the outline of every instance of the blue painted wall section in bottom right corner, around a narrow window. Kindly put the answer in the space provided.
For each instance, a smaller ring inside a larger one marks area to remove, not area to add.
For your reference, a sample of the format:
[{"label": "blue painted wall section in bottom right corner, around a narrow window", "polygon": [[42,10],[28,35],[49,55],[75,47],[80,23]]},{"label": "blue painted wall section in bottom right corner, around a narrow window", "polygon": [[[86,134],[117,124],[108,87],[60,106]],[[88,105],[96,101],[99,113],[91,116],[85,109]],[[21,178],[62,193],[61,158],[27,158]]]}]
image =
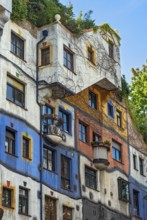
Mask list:
[{"label": "blue painted wall section in bottom right corner, around a narrow window", "polygon": [[133,215],[134,206],[133,206],[133,189],[139,192],[139,214],[142,220],[147,220],[147,200],[144,199],[147,196],[147,187],[144,187],[140,183],[138,183],[132,177],[129,177],[130,182],[130,213]]}]

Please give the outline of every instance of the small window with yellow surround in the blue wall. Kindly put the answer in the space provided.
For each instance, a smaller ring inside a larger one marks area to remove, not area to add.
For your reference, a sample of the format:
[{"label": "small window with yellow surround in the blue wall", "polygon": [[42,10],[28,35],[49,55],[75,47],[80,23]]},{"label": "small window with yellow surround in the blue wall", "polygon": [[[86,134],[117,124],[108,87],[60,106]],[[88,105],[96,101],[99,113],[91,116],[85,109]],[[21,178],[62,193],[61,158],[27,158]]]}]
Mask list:
[{"label": "small window with yellow surround in the blue wall", "polygon": [[26,159],[31,159],[31,139],[23,136],[22,141],[22,156]]}]

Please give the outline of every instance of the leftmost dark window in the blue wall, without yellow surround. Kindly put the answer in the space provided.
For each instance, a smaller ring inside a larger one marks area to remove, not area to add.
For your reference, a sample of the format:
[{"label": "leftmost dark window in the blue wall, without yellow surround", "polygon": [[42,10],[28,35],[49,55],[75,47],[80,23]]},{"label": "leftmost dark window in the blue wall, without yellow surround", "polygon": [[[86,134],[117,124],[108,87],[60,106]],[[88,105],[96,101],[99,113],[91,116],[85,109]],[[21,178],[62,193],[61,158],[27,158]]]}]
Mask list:
[{"label": "leftmost dark window in the blue wall, without yellow surround", "polygon": [[[16,131],[6,127],[5,132],[5,153],[16,156]],[[10,146],[10,142],[12,142],[12,146]],[[8,143],[8,145],[6,145],[6,143]]]}]

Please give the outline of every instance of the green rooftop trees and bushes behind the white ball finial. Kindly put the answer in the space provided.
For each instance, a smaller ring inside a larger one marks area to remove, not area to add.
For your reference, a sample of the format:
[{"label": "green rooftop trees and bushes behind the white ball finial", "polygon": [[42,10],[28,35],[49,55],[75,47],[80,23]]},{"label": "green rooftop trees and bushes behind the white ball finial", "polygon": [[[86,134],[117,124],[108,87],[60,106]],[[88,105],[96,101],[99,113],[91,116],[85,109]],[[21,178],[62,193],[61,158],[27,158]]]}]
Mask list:
[{"label": "green rooftop trees and bushes behind the white ball finial", "polygon": [[91,19],[92,11],[82,14],[76,19],[73,13],[73,5],[68,7],[58,0],[13,0],[11,18],[14,21],[27,19],[32,25],[40,27],[54,22],[56,14],[61,15],[62,24],[71,32],[80,34],[83,29],[95,27]]}]

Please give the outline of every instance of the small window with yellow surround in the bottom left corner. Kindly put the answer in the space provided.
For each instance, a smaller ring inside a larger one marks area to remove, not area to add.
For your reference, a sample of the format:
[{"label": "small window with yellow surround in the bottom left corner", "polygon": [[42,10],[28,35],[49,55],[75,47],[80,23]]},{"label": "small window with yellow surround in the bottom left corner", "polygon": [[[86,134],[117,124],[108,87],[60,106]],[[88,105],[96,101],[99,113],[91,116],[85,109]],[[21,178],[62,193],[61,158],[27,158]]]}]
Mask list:
[{"label": "small window with yellow surround in the bottom left corner", "polygon": [[3,187],[2,205],[12,207],[12,189]]}]

